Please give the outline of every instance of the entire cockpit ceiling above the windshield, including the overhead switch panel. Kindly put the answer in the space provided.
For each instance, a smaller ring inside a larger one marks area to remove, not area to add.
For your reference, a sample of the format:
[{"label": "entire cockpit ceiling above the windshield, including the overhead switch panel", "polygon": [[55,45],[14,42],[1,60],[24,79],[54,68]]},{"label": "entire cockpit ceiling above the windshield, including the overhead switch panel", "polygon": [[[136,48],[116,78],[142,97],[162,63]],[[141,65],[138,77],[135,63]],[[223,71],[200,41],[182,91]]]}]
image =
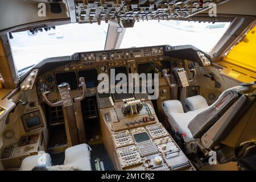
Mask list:
[{"label": "entire cockpit ceiling above the windshield, including the overhead switch panel", "polygon": [[[42,4],[46,7],[45,16]],[[0,34],[56,23],[114,22],[133,27],[135,21],[193,20],[225,22],[236,16],[255,17],[254,0],[9,0],[0,1]]]}]

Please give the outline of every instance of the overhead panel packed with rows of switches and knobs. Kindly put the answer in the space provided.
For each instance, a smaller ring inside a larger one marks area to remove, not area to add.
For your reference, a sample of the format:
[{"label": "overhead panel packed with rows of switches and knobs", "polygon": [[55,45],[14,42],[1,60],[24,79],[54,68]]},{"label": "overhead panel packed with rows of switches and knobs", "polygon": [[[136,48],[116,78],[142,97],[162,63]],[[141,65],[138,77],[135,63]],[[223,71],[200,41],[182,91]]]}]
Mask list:
[{"label": "overhead panel packed with rows of switches and knobs", "polygon": [[120,21],[189,18],[226,1],[83,0],[75,2],[76,19],[79,23],[100,23],[101,20],[105,22],[117,20],[119,23]]}]

